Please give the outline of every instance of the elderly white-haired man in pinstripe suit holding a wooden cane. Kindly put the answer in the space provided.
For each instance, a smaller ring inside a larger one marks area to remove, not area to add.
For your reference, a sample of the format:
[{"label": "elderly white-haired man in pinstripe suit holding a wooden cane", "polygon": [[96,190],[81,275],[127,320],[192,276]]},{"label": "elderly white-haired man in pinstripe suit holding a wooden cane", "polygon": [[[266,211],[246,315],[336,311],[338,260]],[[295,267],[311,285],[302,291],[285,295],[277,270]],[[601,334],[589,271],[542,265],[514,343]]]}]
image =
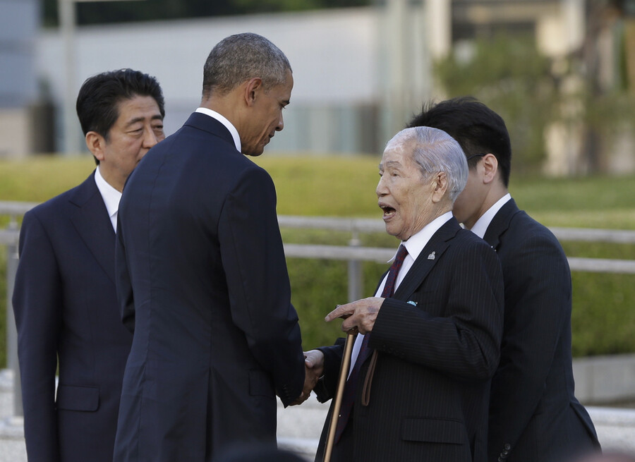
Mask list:
[{"label": "elderly white-haired man in pinstripe suit holding a wooden cane", "polygon": [[[452,217],[465,156],[447,133],[409,128],[388,142],[380,176],[378,205],[387,233],[401,240],[401,267],[393,263],[376,297],[327,315],[365,334],[353,348],[332,461],[485,462],[503,287],[495,253]],[[324,373],[320,401],[334,395],[342,351],[306,353]]]}]

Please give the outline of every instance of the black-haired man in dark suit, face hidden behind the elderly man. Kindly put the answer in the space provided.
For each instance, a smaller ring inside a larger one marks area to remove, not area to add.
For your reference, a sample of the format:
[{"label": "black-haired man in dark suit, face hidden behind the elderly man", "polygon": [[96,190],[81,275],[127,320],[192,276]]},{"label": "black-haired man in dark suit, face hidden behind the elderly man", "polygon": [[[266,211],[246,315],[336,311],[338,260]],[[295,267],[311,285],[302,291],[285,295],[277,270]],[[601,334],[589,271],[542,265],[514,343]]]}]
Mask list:
[{"label": "black-haired man in dark suit, face hidden behind the elderly man", "polygon": [[505,286],[500,365],[492,379],[489,461],[564,462],[599,448],[571,370],[571,273],[553,234],[507,190],[512,148],[502,118],[471,98],[424,108],[409,126],[440,128],[470,167],[454,214],[500,257]]}]

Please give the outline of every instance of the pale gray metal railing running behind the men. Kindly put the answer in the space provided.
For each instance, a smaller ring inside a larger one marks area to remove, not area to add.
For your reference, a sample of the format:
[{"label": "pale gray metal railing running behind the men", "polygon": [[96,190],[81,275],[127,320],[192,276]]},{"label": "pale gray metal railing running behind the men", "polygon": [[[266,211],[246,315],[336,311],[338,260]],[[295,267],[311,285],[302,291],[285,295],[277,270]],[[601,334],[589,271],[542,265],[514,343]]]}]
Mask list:
[{"label": "pale gray metal railing running behind the men", "polygon": [[[7,252],[6,271],[6,317],[7,317],[7,366],[13,370],[15,399],[14,415],[22,415],[20,396],[20,374],[18,372],[18,336],[13,318],[11,294],[18,266],[18,217],[37,205],[35,202],[0,202],[0,216],[8,216],[6,229],[0,229],[0,245]],[[349,300],[357,300],[363,294],[361,263],[387,262],[396,248],[362,247],[360,233],[385,233],[385,225],[380,219],[334,218],[334,217],[291,217],[280,215],[282,229],[324,229],[351,233],[349,245],[284,244],[286,257],[344,260],[348,262]],[[635,243],[635,231],[611,229],[550,228],[560,241],[586,241],[600,243]],[[635,274],[635,260],[608,260],[599,258],[569,257],[571,271]]]}]

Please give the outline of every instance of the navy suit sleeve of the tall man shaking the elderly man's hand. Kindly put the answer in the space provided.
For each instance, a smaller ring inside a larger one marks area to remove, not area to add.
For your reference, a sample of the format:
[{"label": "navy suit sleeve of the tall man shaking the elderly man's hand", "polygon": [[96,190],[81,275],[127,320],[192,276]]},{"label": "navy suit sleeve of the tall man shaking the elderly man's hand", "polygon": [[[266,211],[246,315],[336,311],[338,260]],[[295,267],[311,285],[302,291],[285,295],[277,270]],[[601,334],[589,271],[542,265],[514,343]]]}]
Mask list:
[{"label": "navy suit sleeve of the tall man shaking the elderly man's hand", "polygon": [[287,406],[301,394],[304,355],[266,171],[247,169],[238,178],[221,212],[219,242],[232,320]]}]

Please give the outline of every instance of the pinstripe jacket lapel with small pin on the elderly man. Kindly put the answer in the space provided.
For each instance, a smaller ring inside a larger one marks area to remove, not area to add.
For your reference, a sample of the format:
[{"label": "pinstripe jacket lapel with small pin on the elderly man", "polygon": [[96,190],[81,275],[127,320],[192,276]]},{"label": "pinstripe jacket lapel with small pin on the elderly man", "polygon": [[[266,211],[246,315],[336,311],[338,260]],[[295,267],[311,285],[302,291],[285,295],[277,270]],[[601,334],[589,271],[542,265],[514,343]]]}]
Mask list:
[{"label": "pinstripe jacket lapel with small pin on the elderly man", "polygon": [[423,279],[428,276],[430,270],[433,269],[449,247],[448,241],[454,238],[460,229],[461,226],[459,226],[458,221],[452,217],[433,234],[430,241],[421,250],[404,280],[399,284],[392,298],[407,300],[421,286]]}]

